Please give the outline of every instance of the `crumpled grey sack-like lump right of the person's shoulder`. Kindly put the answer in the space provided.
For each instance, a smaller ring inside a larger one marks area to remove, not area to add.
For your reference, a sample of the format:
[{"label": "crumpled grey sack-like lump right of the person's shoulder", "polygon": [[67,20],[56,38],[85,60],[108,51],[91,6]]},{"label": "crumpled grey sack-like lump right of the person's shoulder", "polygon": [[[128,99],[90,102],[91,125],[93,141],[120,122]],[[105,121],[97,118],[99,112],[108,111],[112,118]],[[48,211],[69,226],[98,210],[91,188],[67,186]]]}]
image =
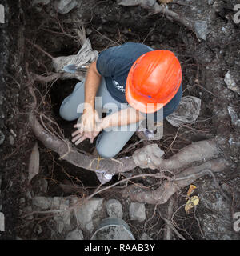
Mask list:
[{"label": "crumpled grey sack-like lump right of the person's shoulder", "polygon": [[195,122],[200,114],[201,99],[194,96],[182,97],[177,110],[166,117],[172,126],[179,127],[182,124]]}]

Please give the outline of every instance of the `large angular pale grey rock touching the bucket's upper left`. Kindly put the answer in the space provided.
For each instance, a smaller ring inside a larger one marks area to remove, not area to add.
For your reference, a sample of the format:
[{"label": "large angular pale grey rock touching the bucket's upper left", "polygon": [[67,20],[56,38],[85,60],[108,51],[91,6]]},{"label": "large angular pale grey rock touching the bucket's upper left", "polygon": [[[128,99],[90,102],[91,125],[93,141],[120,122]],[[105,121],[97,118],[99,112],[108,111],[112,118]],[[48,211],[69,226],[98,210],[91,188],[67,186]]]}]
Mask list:
[{"label": "large angular pale grey rock touching the bucket's upper left", "polygon": [[90,198],[85,204],[78,206],[78,198],[76,198],[74,205],[76,205],[76,218],[82,230],[93,232],[94,228],[98,226],[102,216],[103,199]]}]

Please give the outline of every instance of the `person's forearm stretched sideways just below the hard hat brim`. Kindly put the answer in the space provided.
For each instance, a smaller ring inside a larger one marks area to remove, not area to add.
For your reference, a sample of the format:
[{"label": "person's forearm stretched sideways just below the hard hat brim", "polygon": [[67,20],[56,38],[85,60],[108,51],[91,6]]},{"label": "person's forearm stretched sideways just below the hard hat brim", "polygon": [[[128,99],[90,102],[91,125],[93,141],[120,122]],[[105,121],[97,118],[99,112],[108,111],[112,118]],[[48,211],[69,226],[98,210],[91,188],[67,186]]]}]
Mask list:
[{"label": "person's forearm stretched sideways just below the hard hat brim", "polygon": [[102,129],[114,126],[126,126],[131,123],[139,122],[145,119],[137,110],[130,107],[124,110],[115,112],[102,118]]}]

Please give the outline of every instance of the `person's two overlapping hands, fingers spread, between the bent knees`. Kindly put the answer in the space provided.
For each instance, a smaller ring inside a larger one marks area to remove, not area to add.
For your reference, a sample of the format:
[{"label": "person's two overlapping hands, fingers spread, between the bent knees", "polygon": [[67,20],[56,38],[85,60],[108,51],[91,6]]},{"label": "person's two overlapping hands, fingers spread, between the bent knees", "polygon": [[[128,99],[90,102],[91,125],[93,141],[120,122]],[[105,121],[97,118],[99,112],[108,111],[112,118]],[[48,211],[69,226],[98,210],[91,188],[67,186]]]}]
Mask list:
[{"label": "person's two overlapping hands, fingers spread, between the bent knees", "polygon": [[84,110],[82,114],[81,123],[74,125],[77,128],[72,134],[72,142],[75,145],[83,142],[86,138],[90,139],[90,142],[94,142],[94,138],[102,130],[102,120],[98,117],[98,112],[96,110]]}]

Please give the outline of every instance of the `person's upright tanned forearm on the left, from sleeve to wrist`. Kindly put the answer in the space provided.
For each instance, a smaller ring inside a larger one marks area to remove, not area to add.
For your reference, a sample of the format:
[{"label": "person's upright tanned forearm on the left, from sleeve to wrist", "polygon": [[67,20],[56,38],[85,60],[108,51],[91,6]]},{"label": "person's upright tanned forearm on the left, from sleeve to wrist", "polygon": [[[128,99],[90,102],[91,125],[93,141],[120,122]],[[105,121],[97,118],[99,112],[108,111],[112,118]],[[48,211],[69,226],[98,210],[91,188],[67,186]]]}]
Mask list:
[{"label": "person's upright tanned forearm on the left, from sleeve to wrist", "polygon": [[95,97],[101,82],[101,75],[98,74],[96,62],[91,63],[86,74],[85,82],[85,107],[89,104],[94,109]]}]

